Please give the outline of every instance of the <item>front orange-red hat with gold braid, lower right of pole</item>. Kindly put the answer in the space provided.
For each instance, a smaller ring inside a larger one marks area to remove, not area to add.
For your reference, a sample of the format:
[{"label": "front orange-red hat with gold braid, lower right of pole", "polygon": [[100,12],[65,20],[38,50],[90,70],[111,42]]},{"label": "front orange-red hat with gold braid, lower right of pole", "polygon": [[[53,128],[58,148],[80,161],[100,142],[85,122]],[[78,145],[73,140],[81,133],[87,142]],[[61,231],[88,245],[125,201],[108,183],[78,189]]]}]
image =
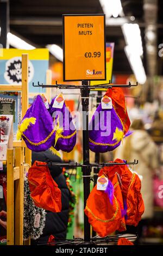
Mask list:
[{"label": "front orange-red hat with gold braid, lower right of pole", "polygon": [[[121,209],[118,199],[119,184],[117,175],[112,179],[114,185],[114,196],[112,203],[105,191],[97,190],[97,185],[93,187],[89,198],[87,199],[84,210],[89,218],[89,223],[93,230],[101,237],[107,236],[120,228],[122,223]],[[126,230],[124,228],[123,230]]]}]

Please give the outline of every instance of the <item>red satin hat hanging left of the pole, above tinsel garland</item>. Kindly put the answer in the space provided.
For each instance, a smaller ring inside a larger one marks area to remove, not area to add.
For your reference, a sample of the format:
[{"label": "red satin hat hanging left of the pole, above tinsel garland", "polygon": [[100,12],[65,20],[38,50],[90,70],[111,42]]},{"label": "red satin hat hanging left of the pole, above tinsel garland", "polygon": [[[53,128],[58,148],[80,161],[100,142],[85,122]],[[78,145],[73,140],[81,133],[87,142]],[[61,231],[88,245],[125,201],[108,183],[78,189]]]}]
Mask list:
[{"label": "red satin hat hanging left of the pole, above tinsel garland", "polygon": [[52,212],[61,211],[61,191],[57,183],[52,179],[45,162],[35,161],[28,171],[28,182],[30,197],[34,200],[37,207]]}]

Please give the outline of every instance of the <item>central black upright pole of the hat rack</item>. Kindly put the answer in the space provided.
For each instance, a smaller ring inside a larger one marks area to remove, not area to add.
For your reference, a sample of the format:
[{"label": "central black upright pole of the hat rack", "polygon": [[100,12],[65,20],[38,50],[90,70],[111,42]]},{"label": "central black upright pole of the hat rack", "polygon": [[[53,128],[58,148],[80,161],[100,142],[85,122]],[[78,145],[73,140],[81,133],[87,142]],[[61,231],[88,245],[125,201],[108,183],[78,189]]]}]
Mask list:
[{"label": "central black upright pole of the hat rack", "polygon": [[[82,81],[83,86],[85,88],[81,89],[81,96],[82,96],[82,113],[83,113],[83,164],[90,163],[90,154],[89,154],[89,93],[90,89],[86,86],[88,85],[88,81]],[[90,174],[91,168],[90,167],[83,167],[83,185],[84,185],[84,208],[86,206],[86,200],[90,194]],[[90,223],[88,221],[87,216],[84,214],[84,241],[89,242],[91,239],[91,230],[90,230]]]}]

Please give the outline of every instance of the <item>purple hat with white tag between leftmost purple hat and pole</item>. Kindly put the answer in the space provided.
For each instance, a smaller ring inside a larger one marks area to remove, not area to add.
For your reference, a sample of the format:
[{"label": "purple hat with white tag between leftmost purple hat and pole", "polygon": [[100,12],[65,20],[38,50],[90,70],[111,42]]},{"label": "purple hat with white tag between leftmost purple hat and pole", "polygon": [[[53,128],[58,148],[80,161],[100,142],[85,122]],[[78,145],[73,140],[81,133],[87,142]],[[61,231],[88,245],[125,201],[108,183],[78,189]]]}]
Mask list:
[{"label": "purple hat with white tag between leftmost purple hat and pole", "polygon": [[[55,104],[57,101],[62,101],[60,108]],[[61,149],[65,152],[72,151],[76,144],[77,131],[73,124],[72,115],[66,107],[64,98],[61,94],[54,97],[52,100],[49,113],[52,115],[52,118],[54,118],[55,125],[61,127],[63,130],[55,144],[55,149]]]}]

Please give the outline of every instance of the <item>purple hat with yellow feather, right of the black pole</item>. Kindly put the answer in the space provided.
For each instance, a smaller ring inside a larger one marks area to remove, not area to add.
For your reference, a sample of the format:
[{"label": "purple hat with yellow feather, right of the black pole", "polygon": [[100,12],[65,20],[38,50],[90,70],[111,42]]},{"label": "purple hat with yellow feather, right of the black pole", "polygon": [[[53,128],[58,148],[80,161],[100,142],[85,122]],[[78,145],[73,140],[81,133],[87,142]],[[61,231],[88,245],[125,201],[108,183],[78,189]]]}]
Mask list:
[{"label": "purple hat with yellow feather, right of the black pole", "polygon": [[102,109],[100,103],[89,123],[90,149],[98,153],[112,151],[120,145],[123,137],[123,123],[114,106]]}]

